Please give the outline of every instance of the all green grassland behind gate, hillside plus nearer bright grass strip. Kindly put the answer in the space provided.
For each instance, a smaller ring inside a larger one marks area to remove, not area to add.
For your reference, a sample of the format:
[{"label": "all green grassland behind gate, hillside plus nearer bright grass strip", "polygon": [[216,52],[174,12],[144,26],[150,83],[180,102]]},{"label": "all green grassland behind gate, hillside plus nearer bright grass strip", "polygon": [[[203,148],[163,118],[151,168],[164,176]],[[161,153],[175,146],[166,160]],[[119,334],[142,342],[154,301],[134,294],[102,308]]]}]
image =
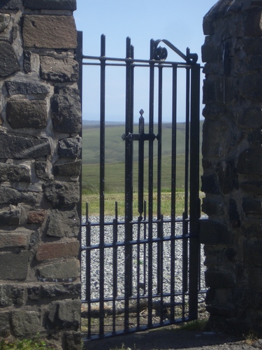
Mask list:
[{"label": "all green grassland behind gate, hillside plus nearer bright grass strip", "polygon": [[[202,130],[201,122],[201,130]],[[114,213],[114,202],[119,203],[120,211],[124,209],[124,159],[125,142],[122,139],[124,125],[108,125],[105,127],[105,214]],[[134,133],[138,132],[138,125],[134,127]],[[147,132],[147,131],[146,131]],[[154,131],[157,134],[157,129]],[[176,190],[177,201],[181,202],[178,211],[184,206],[184,149],[185,149],[185,124],[177,124],[176,132]],[[90,214],[98,214],[99,207],[99,159],[100,159],[100,130],[99,126],[84,127],[82,130],[82,201],[88,201]],[[154,188],[157,188],[157,140],[154,141]],[[133,191],[134,202],[138,190],[138,141],[134,141],[133,151]],[[162,151],[161,151],[161,190],[162,203],[165,214],[170,214],[170,186],[171,186],[171,151],[172,129],[170,124],[163,125]],[[147,192],[148,178],[148,142],[145,142],[145,193]],[[146,200],[146,198],[145,198]],[[168,203],[166,203],[168,201]],[[177,203],[178,204],[178,203]]]}]

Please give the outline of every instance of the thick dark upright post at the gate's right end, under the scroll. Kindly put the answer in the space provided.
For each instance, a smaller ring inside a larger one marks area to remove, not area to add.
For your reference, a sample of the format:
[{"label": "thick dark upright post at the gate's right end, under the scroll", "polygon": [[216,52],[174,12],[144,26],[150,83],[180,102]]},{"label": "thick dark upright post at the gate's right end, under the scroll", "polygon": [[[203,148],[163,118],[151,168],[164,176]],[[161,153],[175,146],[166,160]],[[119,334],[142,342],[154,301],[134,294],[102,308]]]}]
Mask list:
[{"label": "thick dark upright post at the gate's right end, under the scroll", "polygon": [[189,318],[198,317],[200,65],[191,66]]}]

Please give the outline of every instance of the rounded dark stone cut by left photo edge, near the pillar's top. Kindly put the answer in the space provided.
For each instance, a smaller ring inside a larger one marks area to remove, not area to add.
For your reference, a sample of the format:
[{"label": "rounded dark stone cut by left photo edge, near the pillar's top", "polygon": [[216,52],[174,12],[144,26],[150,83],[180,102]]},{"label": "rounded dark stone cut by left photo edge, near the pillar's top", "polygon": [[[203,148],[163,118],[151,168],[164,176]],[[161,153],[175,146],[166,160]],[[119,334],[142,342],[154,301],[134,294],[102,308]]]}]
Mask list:
[{"label": "rounded dark stone cut by left photo edge, near the pillar's top", "polygon": [[0,78],[10,76],[20,71],[20,64],[15,56],[12,45],[5,41],[0,41]]}]

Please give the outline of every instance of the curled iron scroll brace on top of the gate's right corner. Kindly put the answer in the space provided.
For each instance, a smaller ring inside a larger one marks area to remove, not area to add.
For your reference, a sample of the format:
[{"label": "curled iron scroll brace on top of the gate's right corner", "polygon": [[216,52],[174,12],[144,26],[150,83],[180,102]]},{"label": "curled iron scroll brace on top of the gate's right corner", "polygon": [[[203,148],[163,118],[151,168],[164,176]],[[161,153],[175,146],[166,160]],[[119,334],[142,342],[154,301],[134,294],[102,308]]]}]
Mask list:
[{"label": "curled iron scroll brace on top of the gate's right corner", "polygon": [[165,43],[168,46],[168,48],[170,48],[175,53],[177,53],[177,55],[182,57],[182,59],[184,59],[188,64],[195,64],[198,60],[198,55],[196,53],[190,53],[189,48],[187,48],[187,55],[184,55],[182,51],[180,51],[178,48],[175,47],[175,45],[173,45],[173,43],[170,43],[170,41],[166,39],[158,39],[152,42],[154,43],[154,48],[153,48],[154,53],[151,59],[162,61],[162,60],[165,60],[166,57],[168,57],[168,51],[166,50],[166,48],[159,46],[159,43],[162,42],[162,43]]}]

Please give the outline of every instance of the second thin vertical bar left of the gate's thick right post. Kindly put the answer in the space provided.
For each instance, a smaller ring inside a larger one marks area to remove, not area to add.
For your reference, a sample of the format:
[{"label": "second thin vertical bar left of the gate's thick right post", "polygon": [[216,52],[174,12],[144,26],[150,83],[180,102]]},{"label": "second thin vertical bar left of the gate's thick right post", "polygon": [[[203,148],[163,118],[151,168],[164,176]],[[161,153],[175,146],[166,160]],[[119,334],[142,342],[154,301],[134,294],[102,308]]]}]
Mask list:
[{"label": "second thin vertical bar left of the gate's thick right post", "polygon": [[[171,237],[175,237],[177,158],[177,65],[172,68]],[[175,240],[170,241],[170,320],[175,318]]]}]

